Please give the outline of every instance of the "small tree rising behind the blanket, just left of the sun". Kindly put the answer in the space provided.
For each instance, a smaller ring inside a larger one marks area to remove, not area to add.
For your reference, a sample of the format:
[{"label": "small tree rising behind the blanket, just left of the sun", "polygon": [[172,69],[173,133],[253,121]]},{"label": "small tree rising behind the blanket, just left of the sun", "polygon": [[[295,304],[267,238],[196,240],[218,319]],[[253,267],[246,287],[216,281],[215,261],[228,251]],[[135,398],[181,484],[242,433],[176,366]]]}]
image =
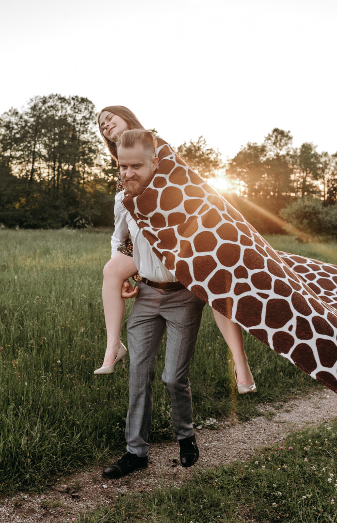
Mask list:
[{"label": "small tree rising behind the blanket, just left of the sun", "polygon": [[221,153],[212,147],[208,147],[205,138],[199,136],[194,142],[184,142],[179,145],[176,152],[181,158],[194,169],[201,177],[210,178],[217,175],[219,169],[224,167]]}]

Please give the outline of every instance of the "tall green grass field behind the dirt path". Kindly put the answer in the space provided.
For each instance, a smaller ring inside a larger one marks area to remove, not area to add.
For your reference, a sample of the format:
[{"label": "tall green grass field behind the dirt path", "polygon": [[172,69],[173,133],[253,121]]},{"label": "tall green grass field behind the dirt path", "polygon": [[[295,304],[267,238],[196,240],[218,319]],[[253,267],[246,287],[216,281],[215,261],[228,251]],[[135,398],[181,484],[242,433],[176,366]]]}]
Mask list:
[{"label": "tall green grass field behind the dirt path", "polygon": [[[337,244],[306,245],[285,236],[267,240],[283,251],[337,260]],[[108,377],[93,375],[105,351],[101,288],[109,242],[108,232],[0,231],[1,492],[39,490],[57,473],[124,448],[127,372],[118,367]],[[320,386],[255,338],[246,335],[245,347],[259,393],[239,397],[231,386],[227,346],[205,308],[190,368],[196,423],[233,411],[248,419],[260,402]],[[154,440],[173,437],[160,380],[163,361],[162,347]]]}]

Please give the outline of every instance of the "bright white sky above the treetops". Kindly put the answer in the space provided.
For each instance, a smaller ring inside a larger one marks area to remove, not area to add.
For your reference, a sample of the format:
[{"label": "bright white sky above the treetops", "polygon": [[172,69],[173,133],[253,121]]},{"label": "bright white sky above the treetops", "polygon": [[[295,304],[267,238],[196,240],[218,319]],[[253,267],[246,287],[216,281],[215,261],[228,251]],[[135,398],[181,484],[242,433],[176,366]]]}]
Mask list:
[{"label": "bright white sky above the treetops", "polygon": [[6,2],[0,114],[80,95],[224,159],[274,127],[334,153],[336,14],[335,0]]}]

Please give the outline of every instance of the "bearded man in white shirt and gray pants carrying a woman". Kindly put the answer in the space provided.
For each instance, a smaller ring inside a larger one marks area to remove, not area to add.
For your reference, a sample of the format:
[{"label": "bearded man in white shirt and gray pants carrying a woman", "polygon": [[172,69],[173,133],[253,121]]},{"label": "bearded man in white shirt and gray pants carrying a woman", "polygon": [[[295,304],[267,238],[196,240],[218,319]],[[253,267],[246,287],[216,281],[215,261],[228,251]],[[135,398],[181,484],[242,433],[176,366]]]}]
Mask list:
[{"label": "bearded man in white shirt and gray pants carrying a woman", "polygon": [[[117,142],[120,175],[125,191],[115,199],[115,232],[112,254],[131,233],[133,260],[143,281],[128,319],[129,411],[125,437],[127,454],[104,470],[117,478],[148,466],[148,439],[152,421],[152,381],[155,358],[167,330],[165,368],[162,380],[171,397],[172,422],[179,441],[183,467],[199,457],[193,431],[192,395],[188,381],[189,363],[194,350],[204,302],[179,283],[152,252],[131,214],[123,207],[125,192],[142,194],[151,182],[158,157],[153,133],[143,129],[125,131]],[[123,291],[132,295],[132,286]],[[134,291],[133,291],[134,292]]]}]

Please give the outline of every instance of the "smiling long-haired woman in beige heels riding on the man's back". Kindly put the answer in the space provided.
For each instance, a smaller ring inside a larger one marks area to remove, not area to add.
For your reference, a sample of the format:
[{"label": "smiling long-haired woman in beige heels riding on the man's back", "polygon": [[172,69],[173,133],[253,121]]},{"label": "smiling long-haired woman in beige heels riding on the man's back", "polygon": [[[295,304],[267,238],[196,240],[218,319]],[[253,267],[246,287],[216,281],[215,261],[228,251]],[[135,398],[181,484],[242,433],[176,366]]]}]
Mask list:
[{"label": "smiling long-haired woman in beige heels riding on the man's back", "polygon": [[[117,134],[127,129],[142,128],[136,116],[124,106],[109,106],[100,111],[98,115],[99,130],[106,142],[111,155],[117,161],[115,139]],[[117,190],[122,190],[120,178]],[[116,363],[125,360],[126,348],[120,341],[120,331],[123,315],[125,313],[125,300],[121,297],[124,280],[137,273],[137,268],[132,260],[130,244],[122,245],[120,252],[111,258],[104,267],[103,305],[107,328],[107,349],[103,366],[95,371],[96,374],[114,372]],[[138,289],[129,295],[137,295]],[[248,365],[243,346],[241,327],[231,322],[226,316],[214,310],[215,320],[221,334],[229,346],[234,360],[235,379],[237,379],[240,394],[256,392],[252,373]]]}]

